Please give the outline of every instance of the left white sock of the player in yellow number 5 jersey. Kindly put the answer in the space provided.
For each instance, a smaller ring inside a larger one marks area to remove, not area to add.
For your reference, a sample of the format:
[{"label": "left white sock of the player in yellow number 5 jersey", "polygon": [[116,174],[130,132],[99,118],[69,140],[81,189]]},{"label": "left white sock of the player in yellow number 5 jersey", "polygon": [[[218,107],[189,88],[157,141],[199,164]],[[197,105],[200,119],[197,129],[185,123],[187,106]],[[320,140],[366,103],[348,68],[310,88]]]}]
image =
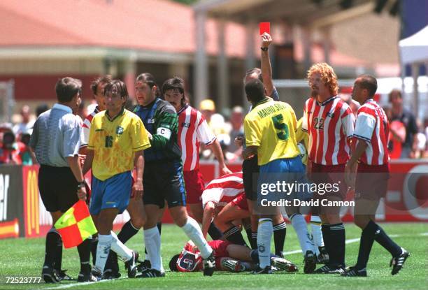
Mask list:
[{"label": "left white sock of the player in yellow number 5 jersey", "polygon": [[260,268],[271,266],[272,219],[259,219],[257,227],[257,249],[259,249]]}]

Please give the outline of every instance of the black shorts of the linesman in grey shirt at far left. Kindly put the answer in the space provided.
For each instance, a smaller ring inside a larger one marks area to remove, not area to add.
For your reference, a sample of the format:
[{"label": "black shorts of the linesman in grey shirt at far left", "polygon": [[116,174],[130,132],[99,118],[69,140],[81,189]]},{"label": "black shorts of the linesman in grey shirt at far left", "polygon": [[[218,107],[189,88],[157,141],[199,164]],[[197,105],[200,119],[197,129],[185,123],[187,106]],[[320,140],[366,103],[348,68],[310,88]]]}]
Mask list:
[{"label": "black shorts of the linesman in grey shirt at far left", "polygon": [[69,167],[41,165],[38,171],[38,189],[48,212],[66,212],[79,198],[78,182]]}]

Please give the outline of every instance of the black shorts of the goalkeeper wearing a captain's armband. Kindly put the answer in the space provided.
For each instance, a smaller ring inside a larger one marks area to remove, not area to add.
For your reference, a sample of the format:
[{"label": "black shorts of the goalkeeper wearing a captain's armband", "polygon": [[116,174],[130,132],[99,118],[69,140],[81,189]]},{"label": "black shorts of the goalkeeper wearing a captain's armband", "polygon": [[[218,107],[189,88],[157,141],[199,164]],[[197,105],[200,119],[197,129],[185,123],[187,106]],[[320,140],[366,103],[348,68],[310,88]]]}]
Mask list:
[{"label": "black shorts of the goalkeeper wearing a captain's armband", "polygon": [[183,165],[178,161],[149,161],[144,166],[143,202],[145,205],[159,205],[169,208],[186,205],[186,190]]}]

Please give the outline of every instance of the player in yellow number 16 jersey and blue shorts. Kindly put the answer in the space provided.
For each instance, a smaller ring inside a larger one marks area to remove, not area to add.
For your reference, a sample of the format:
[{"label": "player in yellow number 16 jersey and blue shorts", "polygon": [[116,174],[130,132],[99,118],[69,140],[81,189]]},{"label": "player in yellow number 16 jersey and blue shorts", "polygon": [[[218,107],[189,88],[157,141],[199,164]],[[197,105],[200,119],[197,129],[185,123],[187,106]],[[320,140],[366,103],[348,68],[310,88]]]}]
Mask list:
[{"label": "player in yellow number 16 jersey and blue shorts", "polygon": [[136,275],[138,253],[113,233],[113,220],[128,206],[131,195],[131,171],[136,168],[132,190],[143,194],[143,150],[150,147],[143,122],[124,108],[128,92],[124,82],[113,80],[104,88],[106,109],[92,119],[87,157],[83,173],[92,168],[90,212],[99,231],[97,261],[92,275],[101,279],[110,249],[124,261],[128,277]]}]

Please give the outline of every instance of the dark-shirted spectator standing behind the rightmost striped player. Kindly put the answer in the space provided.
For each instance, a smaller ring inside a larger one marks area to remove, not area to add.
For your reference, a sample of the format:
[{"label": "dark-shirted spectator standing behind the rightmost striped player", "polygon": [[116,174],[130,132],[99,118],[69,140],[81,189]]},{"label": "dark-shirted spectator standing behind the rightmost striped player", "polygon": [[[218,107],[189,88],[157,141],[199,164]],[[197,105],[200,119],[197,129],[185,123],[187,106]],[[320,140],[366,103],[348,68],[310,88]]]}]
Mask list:
[{"label": "dark-shirted spectator standing behind the rightmost striped player", "polygon": [[[391,125],[392,122],[399,121],[403,123],[404,127],[406,128],[406,136],[404,138],[404,142],[401,143],[400,158],[409,158],[412,152],[415,134],[418,133],[418,126],[416,126],[415,116],[413,113],[411,113],[411,111],[403,107],[403,96],[401,96],[401,91],[399,91],[399,89],[393,89],[390,92],[389,101],[392,105],[390,119]],[[392,129],[392,131],[396,130]]]}]

